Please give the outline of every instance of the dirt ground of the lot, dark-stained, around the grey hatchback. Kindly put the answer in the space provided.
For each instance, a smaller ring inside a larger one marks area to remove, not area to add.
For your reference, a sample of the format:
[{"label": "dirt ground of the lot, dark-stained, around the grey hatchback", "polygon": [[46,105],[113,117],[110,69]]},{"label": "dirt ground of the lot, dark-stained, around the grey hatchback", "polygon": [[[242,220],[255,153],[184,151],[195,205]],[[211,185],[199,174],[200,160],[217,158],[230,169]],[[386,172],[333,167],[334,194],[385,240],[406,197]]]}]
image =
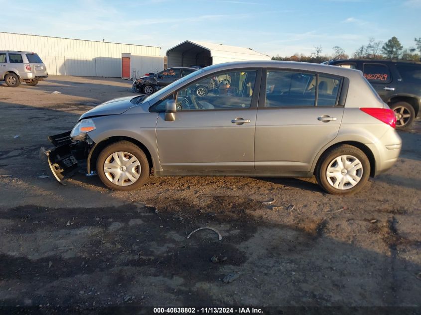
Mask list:
[{"label": "dirt ground of the lot, dark-stained, around the grey hatchback", "polygon": [[[113,192],[96,176],[38,178],[48,135],[130,88],[0,85],[0,306],[421,306],[420,120],[396,166],[349,197],[314,179],[150,177]],[[186,238],[203,226],[222,240]]]}]

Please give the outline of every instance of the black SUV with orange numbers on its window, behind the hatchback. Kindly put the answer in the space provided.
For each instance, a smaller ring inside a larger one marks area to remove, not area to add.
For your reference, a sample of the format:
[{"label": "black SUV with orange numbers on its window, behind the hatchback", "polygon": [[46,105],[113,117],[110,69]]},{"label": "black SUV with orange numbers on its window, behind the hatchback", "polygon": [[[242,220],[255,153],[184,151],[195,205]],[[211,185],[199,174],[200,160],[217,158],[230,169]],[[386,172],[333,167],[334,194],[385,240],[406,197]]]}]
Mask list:
[{"label": "black SUV with orange numbers on its window, behind the hatchback", "polygon": [[421,62],[356,59],[325,63],[361,70],[383,102],[395,110],[396,128],[407,129],[414,122],[421,103]]}]

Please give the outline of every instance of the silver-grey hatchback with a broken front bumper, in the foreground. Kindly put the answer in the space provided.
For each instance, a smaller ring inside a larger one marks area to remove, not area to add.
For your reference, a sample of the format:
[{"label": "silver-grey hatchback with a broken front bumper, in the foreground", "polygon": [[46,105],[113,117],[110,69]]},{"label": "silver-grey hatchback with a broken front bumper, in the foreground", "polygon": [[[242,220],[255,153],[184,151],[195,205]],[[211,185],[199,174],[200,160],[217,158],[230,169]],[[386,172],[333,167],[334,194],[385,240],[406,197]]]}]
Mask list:
[{"label": "silver-grey hatchback with a broken front bumper, in the foreground", "polygon": [[[215,88],[202,97],[202,83]],[[360,71],[309,63],[213,65],[146,97],[115,99],[50,136],[58,181],[81,165],[115,190],[155,176],[311,177],[346,195],[398,159],[394,112]]]}]

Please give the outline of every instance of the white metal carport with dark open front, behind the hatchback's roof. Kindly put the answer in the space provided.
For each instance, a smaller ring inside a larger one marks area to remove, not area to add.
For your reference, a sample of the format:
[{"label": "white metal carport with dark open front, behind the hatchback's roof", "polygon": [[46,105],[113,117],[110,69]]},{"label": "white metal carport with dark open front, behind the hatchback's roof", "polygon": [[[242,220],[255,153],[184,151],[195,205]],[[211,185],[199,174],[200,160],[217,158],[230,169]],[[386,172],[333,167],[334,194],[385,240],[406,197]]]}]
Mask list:
[{"label": "white metal carport with dark open front, behind the hatchback's roof", "polygon": [[251,48],[186,40],[167,50],[168,68],[210,66],[229,61],[271,60]]}]

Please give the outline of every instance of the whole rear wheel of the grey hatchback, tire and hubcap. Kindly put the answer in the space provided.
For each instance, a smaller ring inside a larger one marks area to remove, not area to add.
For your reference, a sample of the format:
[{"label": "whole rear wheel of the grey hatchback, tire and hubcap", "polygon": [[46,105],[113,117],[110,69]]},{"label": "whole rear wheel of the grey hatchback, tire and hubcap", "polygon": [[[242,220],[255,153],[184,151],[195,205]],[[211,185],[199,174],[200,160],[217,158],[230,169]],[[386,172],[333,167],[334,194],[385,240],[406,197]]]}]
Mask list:
[{"label": "whole rear wheel of the grey hatchback, tire and hubcap", "polygon": [[322,154],[314,175],[327,193],[350,195],[361,190],[367,183],[370,161],[360,149],[342,144]]}]

